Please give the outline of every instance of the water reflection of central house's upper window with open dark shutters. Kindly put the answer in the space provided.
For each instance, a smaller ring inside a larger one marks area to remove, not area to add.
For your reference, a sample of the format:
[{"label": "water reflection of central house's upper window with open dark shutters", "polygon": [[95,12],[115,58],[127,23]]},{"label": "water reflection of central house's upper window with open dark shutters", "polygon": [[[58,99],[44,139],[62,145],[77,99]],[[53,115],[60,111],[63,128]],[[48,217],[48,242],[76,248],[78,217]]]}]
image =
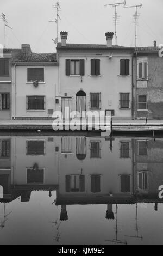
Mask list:
[{"label": "water reflection of central house's upper window with open dark shutters", "polygon": [[84,192],[84,175],[66,175],[66,192]]}]

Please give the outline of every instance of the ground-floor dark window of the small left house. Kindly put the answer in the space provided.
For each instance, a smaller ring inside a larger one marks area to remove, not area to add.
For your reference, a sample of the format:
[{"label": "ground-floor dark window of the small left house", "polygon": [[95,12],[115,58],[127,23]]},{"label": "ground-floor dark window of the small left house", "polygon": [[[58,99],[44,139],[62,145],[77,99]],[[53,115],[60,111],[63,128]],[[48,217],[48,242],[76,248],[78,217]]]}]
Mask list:
[{"label": "ground-floor dark window of the small left house", "polygon": [[27,96],[27,110],[45,110],[45,96]]}]

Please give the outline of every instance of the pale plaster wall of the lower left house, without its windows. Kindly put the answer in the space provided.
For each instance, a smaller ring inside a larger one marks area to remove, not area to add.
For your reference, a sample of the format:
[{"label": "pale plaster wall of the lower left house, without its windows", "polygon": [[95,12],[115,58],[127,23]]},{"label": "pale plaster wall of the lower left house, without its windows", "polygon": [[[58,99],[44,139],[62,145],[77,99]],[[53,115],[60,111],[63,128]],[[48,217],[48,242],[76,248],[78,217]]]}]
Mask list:
[{"label": "pale plaster wall of the lower left house, without its windows", "polygon": [[[51,118],[55,109],[55,90],[58,84],[58,67],[42,66],[44,68],[45,82],[34,87],[33,83],[27,82],[28,66],[16,66],[15,95],[16,102],[12,105],[12,118],[15,119],[47,119]],[[34,68],[40,67],[37,63]],[[29,64],[29,67],[32,67]],[[12,68],[14,72],[14,67]],[[27,110],[27,96],[45,96],[45,110]],[[14,106],[15,105],[15,106]],[[15,109],[15,113],[14,113]]]}]

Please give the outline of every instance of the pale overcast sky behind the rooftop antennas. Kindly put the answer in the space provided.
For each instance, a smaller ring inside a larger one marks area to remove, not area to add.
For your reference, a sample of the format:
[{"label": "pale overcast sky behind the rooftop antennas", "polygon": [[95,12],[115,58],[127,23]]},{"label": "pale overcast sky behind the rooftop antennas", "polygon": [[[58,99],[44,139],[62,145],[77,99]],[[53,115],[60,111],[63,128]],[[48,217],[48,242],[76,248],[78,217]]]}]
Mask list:
[{"label": "pale overcast sky behind the rooftop antennas", "polygon": [[[119,0],[123,2],[123,0]],[[22,43],[30,44],[33,52],[54,52],[52,39],[56,38],[55,0],[0,0],[0,13],[9,21],[7,28],[7,48],[20,48]],[[70,43],[105,44],[105,32],[114,32],[114,8],[104,4],[118,0],[60,0],[59,31],[68,31]],[[152,46],[156,40],[163,43],[163,1],[127,0],[127,5],[137,5],[139,9],[138,46]],[[118,21],[118,45],[135,45],[135,8],[117,8],[121,15]],[[0,20],[0,43],[4,44],[4,25]],[[59,35],[60,39],[60,35]],[[115,44],[115,38],[114,38]]]}]

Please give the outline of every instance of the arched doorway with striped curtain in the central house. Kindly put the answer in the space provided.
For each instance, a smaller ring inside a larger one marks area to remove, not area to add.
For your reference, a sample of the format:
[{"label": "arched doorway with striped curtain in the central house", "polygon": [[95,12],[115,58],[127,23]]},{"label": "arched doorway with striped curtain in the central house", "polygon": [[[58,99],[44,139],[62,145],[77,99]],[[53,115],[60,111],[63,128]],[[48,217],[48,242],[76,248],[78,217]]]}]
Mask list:
[{"label": "arched doorway with striped curtain in the central house", "polygon": [[80,90],[76,95],[77,118],[86,117],[86,93]]}]

